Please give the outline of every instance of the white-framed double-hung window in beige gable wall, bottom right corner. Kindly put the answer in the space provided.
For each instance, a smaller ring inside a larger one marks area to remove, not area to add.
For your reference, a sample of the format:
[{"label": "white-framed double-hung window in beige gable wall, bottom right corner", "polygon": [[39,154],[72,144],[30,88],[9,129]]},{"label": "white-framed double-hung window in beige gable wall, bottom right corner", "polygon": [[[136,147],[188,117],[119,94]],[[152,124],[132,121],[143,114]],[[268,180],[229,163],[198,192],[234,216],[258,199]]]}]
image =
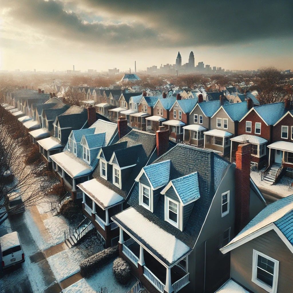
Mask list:
[{"label": "white-framed double-hung window in beige gable wall, bottom right corner", "polygon": [[270,293],[276,293],[279,261],[253,249],[252,265],[252,282]]}]

